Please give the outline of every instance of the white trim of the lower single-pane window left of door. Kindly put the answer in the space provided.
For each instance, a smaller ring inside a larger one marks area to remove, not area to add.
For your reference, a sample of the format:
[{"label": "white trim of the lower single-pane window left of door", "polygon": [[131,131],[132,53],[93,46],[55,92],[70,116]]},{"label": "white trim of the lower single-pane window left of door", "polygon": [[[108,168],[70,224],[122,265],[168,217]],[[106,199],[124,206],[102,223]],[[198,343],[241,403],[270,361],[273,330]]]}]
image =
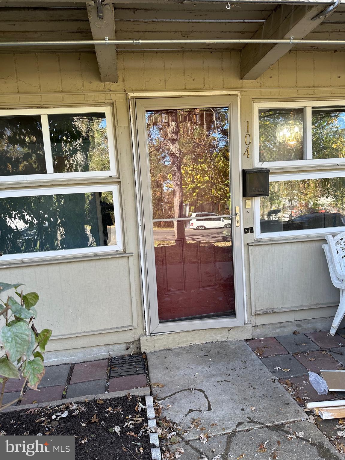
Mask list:
[{"label": "white trim of the lower single-pane window left of door", "polygon": [[76,254],[92,254],[106,253],[114,251],[123,251],[123,233],[122,233],[122,220],[121,220],[121,200],[120,200],[120,186],[116,185],[98,185],[98,186],[77,186],[77,187],[61,187],[61,188],[46,188],[46,189],[31,189],[26,190],[6,190],[0,191],[0,198],[9,198],[16,196],[42,196],[42,195],[56,195],[56,194],[73,194],[73,193],[92,193],[92,192],[105,192],[111,191],[113,194],[114,204],[114,220],[116,231],[116,245],[112,246],[96,246],[96,247],[82,247],[75,249],[58,249],[56,251],[42,251],[37,253],[19,253],[19,254],[4,254],[0,259],[0,266],[7,265],[9,261],[26,260],[26,259],[52,259],[67,255]]}]

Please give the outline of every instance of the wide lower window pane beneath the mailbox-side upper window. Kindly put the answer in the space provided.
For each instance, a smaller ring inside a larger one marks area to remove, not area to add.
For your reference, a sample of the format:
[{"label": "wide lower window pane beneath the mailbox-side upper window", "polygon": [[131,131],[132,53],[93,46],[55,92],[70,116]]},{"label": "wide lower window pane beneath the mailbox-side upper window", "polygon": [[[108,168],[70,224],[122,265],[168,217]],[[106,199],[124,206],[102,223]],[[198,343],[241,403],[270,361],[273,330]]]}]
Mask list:
[{"label": "wide lower window pane beneath the mailbox-side upper window", "polygon": [[343,227],[344,213],[345,178],[271,182],[260,198],[262,233]]}]

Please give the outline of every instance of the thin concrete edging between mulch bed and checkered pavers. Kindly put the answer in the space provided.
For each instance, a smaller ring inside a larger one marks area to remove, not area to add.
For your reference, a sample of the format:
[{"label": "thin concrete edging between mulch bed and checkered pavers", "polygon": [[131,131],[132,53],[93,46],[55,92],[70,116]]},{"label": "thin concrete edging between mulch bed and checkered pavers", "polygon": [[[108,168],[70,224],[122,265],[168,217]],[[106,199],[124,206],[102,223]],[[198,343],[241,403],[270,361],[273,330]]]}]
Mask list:
[{"label": "thin concrete edging between mulch bed and checkered pavers", "polygon": [[6,414],[7,412],[14,412],[18,410],[25,410],[25,409],[36,409],[40,407],[47,407],[47,406],[61,406],[62,404],[66,403],[81,403],[86,399],[92,401],[93,399],[110,399],[116,398],[121,396],[126,396],[127,393],[131,393],[133,396],[148,396],[150,395],[150,388],[148,386],[144,388],[134,388],[131,390],[123,390],[123,391],[110,391],[109,393],[101,393],[98,395],[85,395],[85,396],[77,396],[75,398],[66,398],[66,399],[58,399],[57,401],[49,401],[47,403],[35,403],[35,404],[23,404],[19,406],[10,406],[6,407],[5,409],[0,411],[0,414]]}]

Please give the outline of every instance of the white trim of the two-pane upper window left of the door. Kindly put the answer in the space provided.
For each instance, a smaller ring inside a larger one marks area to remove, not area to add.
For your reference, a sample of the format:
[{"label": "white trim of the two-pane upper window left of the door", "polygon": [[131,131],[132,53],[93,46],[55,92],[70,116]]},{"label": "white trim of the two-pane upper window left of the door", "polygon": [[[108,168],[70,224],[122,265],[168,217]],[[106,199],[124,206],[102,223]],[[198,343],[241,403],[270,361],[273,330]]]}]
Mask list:
[{"label": "white trim of the two-pane upper window left of the door", "polygon": [[[107,122],[107,137],[109,146],[109,171],[86,171],[82,173],[54,173],[52,152],[50,144],[50,133],[48,126],[47,115],[57,114],[82,114],[82,113],[105,113],[105,119]],[[27,174],[27,175],[16,175],[16,176],[0,176],[0,184],[12,183],[18,181],[34,182],[35,180],[45,180],[52,178],[54,179],[72,179],[72,178],[118,178],[118,169],[116,164],[116,147],[115,147],[115,130],[114,121],[112,115],[112,109],[109,105],[104,106],[92,106],[92,107],[68,107],[68,108],[43,108],[43,109],[11,109],[11,110],[0,110],[1,116],[10,115],[40,115],[42,123],[42,135],[43,144],[46,157],[47,173],[43,174]]]}]

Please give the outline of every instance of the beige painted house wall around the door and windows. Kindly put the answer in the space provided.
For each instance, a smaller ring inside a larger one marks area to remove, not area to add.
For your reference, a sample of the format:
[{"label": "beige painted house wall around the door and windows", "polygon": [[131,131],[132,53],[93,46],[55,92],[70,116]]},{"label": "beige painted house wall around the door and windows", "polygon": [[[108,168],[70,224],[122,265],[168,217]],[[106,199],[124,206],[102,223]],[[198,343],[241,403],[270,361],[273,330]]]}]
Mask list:
[{"label": "beige painted house wall around the door and windows", "polygon": [[[150,96],[239,91],[242,140],[247,121],[253,132],[253,101],[336,100],[345,94],[345,52],[290,52],[257,81],[240,81],[239,57],[238,52],[120,53],[119,83],[104,84],[91,52],[0,55],[1,109],[90,104],[114,108],[127,255],[0,269],[1,281],[25,282],[40,293],[39,321],[54,331],[52,350],[131,342],[144,334],[127,92]],[[254,166],[252,150],[250,154],[241,155],[242,167]],[[253,226],[253,208],[246,210],[243,221],[244,227]],[[244,243],[248,322],[262,334],[267,325],[278,329],[291,322],[294,327],[302,320],[313,328],[318,323],[324,327],[334,315],[339,294],[329,281],[322,240],[248,246],[253,243],[253,234],[248,234]],[[312,318],[323,319],[311,322]],[[181,345],[193,336],[195,341],[244,338],[252,331],[250,326],[231,334],[212,329],[169,334],[155,342]]]}]

